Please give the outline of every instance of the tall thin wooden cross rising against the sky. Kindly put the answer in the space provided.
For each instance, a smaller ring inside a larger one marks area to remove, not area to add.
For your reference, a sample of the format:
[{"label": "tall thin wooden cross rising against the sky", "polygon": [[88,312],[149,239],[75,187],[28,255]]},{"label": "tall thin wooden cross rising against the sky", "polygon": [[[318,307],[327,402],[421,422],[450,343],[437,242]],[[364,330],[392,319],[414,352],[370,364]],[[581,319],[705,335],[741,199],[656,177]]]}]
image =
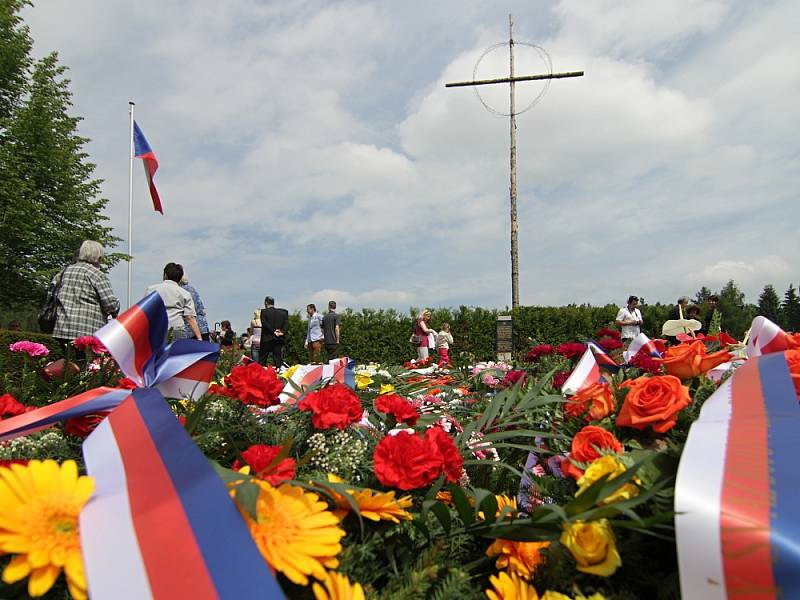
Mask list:
[{"label": "tall thin wooden cross rising against the sky", "polygon": [[481,79],[477,81],[459,81],[447,83],[445,87],[467,87],[475,85],[490,85],[494,83],[507,83],[510,88],[510,110],[511,119],[511,306],[519,306],[519,256],[517,251],[517,120],[516,108],[514,106],[514,84],[517,81],[538,81],[541,79],[566,79],[568,77],[581,77],[583,71],[573,71],[570,73],[546,73],[543,75],[524,75],[514,76],[514,19],[508,15],[508,56],[509,72],[508,77],[499,79]]}]

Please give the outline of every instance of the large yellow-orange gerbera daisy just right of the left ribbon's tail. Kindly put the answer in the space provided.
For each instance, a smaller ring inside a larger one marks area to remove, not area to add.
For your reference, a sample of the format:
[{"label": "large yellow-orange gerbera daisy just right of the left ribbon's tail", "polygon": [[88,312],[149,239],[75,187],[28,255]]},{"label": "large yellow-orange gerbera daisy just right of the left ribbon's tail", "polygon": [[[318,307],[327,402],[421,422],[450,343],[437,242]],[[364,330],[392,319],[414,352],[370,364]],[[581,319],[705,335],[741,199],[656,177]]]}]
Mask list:
[{"label": "large yellow-orange gerbera daisy just right of the left ribbon's tail", "polygon": [[342,549],[339,541],[345,532],[319,496],[288,483],[277,488],[258,479],[253,483],[261,488],[256,500],[257,519],[253,521],[244,511],[242,514],[250,535],[273,569],[298,585],[308,585],[308,575],[324,579],[325,567],[339,566],[336,555]]}]

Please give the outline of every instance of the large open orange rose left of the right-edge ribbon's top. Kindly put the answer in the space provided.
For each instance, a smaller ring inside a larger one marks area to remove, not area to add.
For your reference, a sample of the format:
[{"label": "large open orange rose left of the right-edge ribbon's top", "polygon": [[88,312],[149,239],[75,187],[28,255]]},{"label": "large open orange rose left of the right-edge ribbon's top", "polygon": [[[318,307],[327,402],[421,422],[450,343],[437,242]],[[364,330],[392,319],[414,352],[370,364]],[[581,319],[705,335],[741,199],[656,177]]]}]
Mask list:
[{"label": "large open orange rose left of the right-edge ribbon's top", "polygon": [[673,375],[638,377],[622,383],[629,388],[617,415],[617,425],[664,433],[675,426],[676,415],[689,406],[689,388]]}]

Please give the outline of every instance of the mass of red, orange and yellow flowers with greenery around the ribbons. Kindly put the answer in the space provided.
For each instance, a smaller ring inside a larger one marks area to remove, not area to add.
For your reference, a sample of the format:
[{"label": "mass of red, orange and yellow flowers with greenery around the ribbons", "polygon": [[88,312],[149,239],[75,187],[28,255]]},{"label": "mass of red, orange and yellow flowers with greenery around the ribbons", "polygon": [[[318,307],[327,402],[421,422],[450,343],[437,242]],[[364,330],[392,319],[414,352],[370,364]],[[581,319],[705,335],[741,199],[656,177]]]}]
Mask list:
[{"label": "mass of red, orange and yellow flowers with greenery around the ribbons", "polygon": [[[616,350],[609,331],[598,343]],[[634,357],[570,397],[554,393],[570,371],[555,369],[580,343],[451,373],[372,365],[355,389],[323,381],[296,403],[281,401],[286,379],[272,369],[237,364],[172,408],[219,465],[287,597],[677,598],[674,478],[719,386],[706,373],[732,357],[717,344]],[[800,349],[786,355],[800,393]],[[28,407],[2,395],[0,419]],[[59,549],[42,562],[34,546],[3,545],[30,534],[0,502],[4,585],[86,597],[74,549],[92,483],[77,441],[101,418],[0,443],[0,499],[35,484],[66,519],[48,530],[52,513],[37,509],[37,531],[53,536],[41,539]]]}]

